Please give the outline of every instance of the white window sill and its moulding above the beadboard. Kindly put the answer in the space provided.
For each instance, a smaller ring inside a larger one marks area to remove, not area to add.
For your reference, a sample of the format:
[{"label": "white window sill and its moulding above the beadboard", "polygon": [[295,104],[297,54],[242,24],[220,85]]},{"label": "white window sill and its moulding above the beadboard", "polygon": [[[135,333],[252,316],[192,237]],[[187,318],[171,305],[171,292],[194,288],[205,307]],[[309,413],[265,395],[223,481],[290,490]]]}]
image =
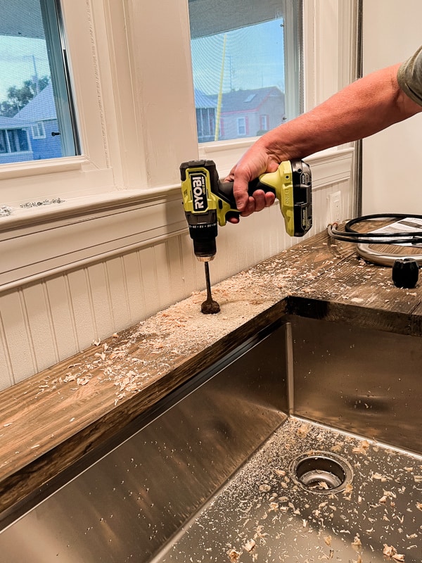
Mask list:
[{"label": "white window sill and its moulding above the beadboard", "polygon": [[[343,148],[307,158],[314,191],[349,179],[352,155],[353,148]],[[121,190],[13,208],[0,217],[0,291],[186,232],[179,189]]]}]

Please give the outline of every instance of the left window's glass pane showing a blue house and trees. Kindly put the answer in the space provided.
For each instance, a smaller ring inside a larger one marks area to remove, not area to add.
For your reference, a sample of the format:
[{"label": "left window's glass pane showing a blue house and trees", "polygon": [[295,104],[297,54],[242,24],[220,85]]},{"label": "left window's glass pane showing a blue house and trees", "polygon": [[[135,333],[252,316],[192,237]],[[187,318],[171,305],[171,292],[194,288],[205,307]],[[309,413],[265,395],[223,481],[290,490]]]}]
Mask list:
[{"label": "left window's glass pane showing a blue house and trees", "polygon": [[79,152],[55,0],[11,0],[0,18],[0,164]]}]

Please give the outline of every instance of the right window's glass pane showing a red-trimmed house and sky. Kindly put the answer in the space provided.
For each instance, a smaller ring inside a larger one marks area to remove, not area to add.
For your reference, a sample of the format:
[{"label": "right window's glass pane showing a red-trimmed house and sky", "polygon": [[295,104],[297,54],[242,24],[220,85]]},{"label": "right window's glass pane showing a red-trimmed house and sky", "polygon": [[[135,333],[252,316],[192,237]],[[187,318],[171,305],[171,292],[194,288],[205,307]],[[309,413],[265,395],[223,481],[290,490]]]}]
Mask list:
[{"label": "right window's glass pane showing a red-trimmed house and sky", "polygon": [[[200,143],[255,137],[298,115],[300,100],[286,103],[300,84],[300,45],[285,49],[286,28],[295,28],[288,37],[296,43],[300,37],[300,2],[293,4],[287,13],[283,0],[245,0],[241,11],[235,0],[189,0]],[[291,69],[296,85],[286,93]]]}]

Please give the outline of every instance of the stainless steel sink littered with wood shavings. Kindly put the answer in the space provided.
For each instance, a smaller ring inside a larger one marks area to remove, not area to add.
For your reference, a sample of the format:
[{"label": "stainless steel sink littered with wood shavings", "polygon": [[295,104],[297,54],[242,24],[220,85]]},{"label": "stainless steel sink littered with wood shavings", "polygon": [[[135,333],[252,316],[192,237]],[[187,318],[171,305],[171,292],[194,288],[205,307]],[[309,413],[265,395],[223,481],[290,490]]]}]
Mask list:
[{"label": "stainless steel sink littered with wood shavings", "polygon": [[420,563],[421,366],[283,318],[0,515],[0,562]]}]

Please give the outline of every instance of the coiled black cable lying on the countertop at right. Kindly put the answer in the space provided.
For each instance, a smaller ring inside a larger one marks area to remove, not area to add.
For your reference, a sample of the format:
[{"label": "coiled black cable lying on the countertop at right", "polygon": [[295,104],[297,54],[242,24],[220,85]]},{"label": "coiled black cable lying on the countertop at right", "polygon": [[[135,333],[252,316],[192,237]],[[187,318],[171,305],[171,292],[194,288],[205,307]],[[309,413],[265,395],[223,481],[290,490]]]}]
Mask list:
[{"label": "coiled black cable lying on the countertop at right", "polygon": [[337,229],[337,223],[328,225],[328,234],[337,239],[345,242],[353,243],[364,243],[364,244],[403,244],[403,243],[422,243],[422,230],[413,232],[396,232],[396,233],[362,233],[352,229],[352,226],[371,220],[377,219],[394,219],[395,221],[400,221],[406,218],[410,219],[420,219],[422,220],[422,215],[414,215],[407,213],[406,215],[401,213],[376,213],[373,215],[362,215],[362,217],[356,217],[347,221],[345,224],[345,230],[339,231]]}]

